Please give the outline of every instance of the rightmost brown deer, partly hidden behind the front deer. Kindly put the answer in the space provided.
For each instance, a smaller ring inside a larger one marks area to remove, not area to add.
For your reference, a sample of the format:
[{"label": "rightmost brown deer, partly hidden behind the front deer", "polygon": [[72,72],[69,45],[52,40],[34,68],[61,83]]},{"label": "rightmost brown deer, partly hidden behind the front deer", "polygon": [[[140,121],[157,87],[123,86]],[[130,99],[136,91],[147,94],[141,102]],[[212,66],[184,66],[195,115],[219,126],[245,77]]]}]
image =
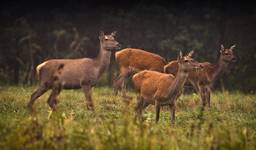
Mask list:
[{"label": "rightmost brown deer, partly hidden behind the front deer", "polygon": [[[231,63],[236,61],[236,56],[233,53],[235,47],[235,45],[232,45],[230,48],[226,49],[221,45],[219,60],[216,64],[200,62],[204,69],[189,73],[188,82],[194,87],[195,91],[200,94],[203,107],[206,105],[209,108],[211,107],[211,91],[216,80],[221,77]],[[178,67],[177,61],[171,61],[164,66],[164,72],[176,75]]]}]

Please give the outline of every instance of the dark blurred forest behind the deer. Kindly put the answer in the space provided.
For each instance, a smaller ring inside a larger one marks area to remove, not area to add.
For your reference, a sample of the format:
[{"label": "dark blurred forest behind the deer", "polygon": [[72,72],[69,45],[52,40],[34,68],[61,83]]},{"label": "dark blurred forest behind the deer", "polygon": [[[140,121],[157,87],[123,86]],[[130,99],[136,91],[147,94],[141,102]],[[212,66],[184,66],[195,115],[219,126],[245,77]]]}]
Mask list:
[{"label": "dark blurred forest behind the deer", "polygon": [[[216,62],[220,45],[236,44],[238,61],[222,77],[227,89],[256,90],[256,7],[246,1],[1,2],[0,84],[33,84],[35,67],[51,58],[95,57],[99,31],[117,31],[122,48],[167,60],[195,50]],[[111,84],[112,63],[101,84]],[[219,82],[221,83],[221,82]],[[219,84],[220,85],[220,84]]]}]

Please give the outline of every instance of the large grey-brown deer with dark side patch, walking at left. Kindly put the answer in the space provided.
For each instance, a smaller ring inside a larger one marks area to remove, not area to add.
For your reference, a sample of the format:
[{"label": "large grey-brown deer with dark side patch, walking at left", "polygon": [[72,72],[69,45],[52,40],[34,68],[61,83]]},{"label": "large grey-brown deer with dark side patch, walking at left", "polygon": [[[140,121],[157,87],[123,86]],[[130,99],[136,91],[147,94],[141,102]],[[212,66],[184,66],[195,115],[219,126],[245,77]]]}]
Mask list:
[{"label": "large grey-brown deer with dark side patch, walking at left", "polygon": [[36,68],[39,77],[39,87],[32,93],[27,107],[33,111],[37,98],[51,89],[48,105],[56,110],[57,96],[62,89],[82,89],[88,110],[94,110],[91,97],[92,87],[97,83],[110,64],[113,50],[119,49],[120,44],[115,40],[116,32],[105,35],[100,32],[100,50],[95,58],[51,59],[39,64]]}]

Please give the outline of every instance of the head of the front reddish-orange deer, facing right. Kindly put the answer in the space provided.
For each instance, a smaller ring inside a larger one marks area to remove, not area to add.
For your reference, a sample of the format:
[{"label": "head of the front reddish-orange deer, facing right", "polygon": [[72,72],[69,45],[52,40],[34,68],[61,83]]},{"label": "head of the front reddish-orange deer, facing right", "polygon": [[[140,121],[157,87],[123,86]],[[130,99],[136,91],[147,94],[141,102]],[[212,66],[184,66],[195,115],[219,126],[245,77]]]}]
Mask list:
[{"label": "head of the front reddish-orange deer, facing right", "polygon": [[182,52],[180,51],[180,54],[177,58],[179,69],[184,72],[191,72],[198,69],[202,69],[203,67],[192,58],[192,54],[194,51],[190,51],[186,56],[182,55]]}]

